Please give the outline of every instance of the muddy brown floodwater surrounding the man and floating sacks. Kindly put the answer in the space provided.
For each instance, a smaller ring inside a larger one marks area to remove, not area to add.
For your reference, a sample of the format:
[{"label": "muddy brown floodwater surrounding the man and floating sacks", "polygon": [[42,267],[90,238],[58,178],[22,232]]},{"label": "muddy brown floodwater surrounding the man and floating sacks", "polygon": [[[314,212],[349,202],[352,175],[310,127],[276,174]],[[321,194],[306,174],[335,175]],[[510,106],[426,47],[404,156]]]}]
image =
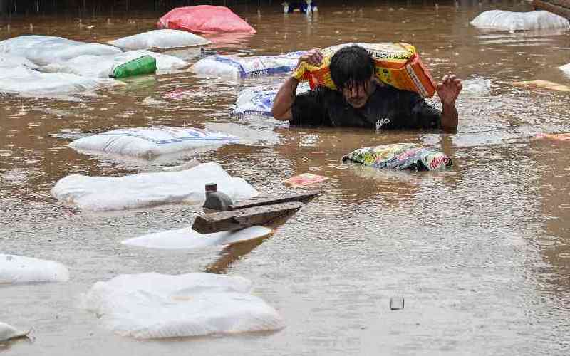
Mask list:
[{"label": "muddy brown floodwater surrounding the man and floating sacks", "polygon": [[[570,93],[519,88],[519,80],[570,85],[570,32],[482,31],[489,9],[516,1],[346,1],[318,13],[237,6],[257,34],[216,38],[207,49],[274,55],[351,41],[411,43],[436,79],[465,81],[456,133],[296,128],[232,117],[237,93],[285,77],[227,80],[190,70],[123,80],[70,98],[0,94],[0,252],[61,262],[67,283],[0,286],[0,321],[32,327],[9,355],[568,355],[570,350]],[[149,31],[162,12],[83,19],[0,21],[0,40],[23,34],[105,43]],[[31,32],[30,23],[33,23]],[[93,28],[88,28],[88,27]],[[195,63],[196,48],[166,53]],[[490,88],[485,88],[489,83]],[[182,91],[183,90],[183,91]],[[172,95],[184,93],[184,95]],[[432,100],[439,103],[439,100]],[[119,127],[190,126],[239,144],[151,161],[82,155],[71,140]],[[449,155],[445,172],[389,172],[341,164],[358,147],[415,142]],[[187,162],[219,162],[260,192],[304,172],[329,177],[321,197],[274,234],[189,251],[135,248],[125,239],[192,225],[201,206],[93,213],[51,188],[69,174],[120,177]],[[79,308],[96,281],[122,273],[209,271],[253,281],[284,318],[272,333],[134,340]],[[403,296],[405,308],[390,310]]]}]

